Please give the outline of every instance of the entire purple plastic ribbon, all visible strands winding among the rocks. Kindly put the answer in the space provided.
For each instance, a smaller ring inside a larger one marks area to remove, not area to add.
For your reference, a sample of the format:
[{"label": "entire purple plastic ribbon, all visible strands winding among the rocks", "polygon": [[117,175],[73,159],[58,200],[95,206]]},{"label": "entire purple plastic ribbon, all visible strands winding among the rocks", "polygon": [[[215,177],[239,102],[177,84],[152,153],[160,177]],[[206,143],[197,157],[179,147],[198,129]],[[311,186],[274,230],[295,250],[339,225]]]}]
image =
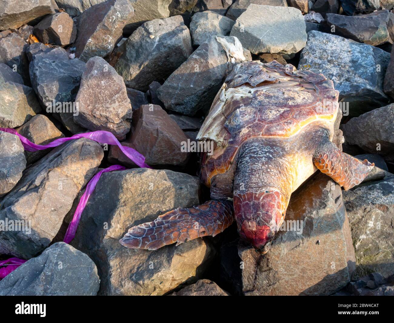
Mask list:
[{"label": "entire purple plastic ribbon, all visible strands winding among the rocks", "polygon": [[[26,137],[22,136],[21,134],[17,133],[15,129],[10,129],[10,128],[0,128],[0,131],[4,131],[6,133],[11,133],[15,134],[16,136],[19,137],[20,141],[22,142],[22,145],[25,150],[27,151],[36,151],[36,150],[43,150],[51,147],[56,147],[68,140],[73,140],[73,139],[79,139],[79,138],[88,138],[91,140],[94,140],[96,142],[99,142],[100,144],[108,144],[108,145],[117,145],[123,153],[130,158],[132,161],[134,161],[138,166],[140,167],[145,167],[145,168],[151,168],[149,165],[145,164],[145,157],[141,155],[138,151],[136,151],[133,148],[122,146],[120,142],[116,139],[116,137],[108,132],[108,131],[93,131],[91,133],[81,133],[81,134],[74,134],[74,136],[69,137],[69,138],[59,138],[56,139],[49,144],[46,145],[36,145],[30,140],[28,140]],[[75,237],[76,230],[78,228],[78,224],[82,215],[82,212],[85,209],[86,203],[89,200],[89,197],[95,190],[95,187],[97,185],[97,182],[100,179],[100,176],[102,173],[106,172],[111,172],[113,170],[125,170],[126,167],[121,166],[121,165],[112,165],[108,168],[105,168],[103,170],[100,170],[95,176],[91,178],[89,183],[86,185],[86,190],[84,194],[82,194],[81,199],[78,203],[78,206],[76,207],[74,217],[72,217],[72,220],[69,224],[69,227],[67,228],[67,232],[64,236],[63,242],[65,243],[70,243],[72,239]],[[22,263],[25,263],[27,260],[20,259],[20,258],[9,258],[6,260],[0,261],[0,279],[6,277],[9,273],[17,269]]]}]

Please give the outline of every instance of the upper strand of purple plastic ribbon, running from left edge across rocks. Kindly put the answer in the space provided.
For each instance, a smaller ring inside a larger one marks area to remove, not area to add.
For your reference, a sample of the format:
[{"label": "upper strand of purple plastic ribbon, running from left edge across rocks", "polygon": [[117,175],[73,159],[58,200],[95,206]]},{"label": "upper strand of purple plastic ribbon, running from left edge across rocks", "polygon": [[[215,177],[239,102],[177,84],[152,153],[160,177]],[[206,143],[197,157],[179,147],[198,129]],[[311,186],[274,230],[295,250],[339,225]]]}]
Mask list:
[{"label": "upper strand of purple plastic ribbon, running from left edge across rocks", "polygon": [[121,151],[128,158],[134,161],[139,167],[152,168],[151,166],[145,164],[145,157],[143,155],[141,155],[138,151],[136,151],[136,149],[122,146],[119,140],[117,140],[116,137],[109,131],[98,130],[98,131],[93,131],[91,133],[74,134],[74,136],[72,137],[55,139],[54,141],[46,145],[33,144],[33,142],[28,140],[26,137],[17,133],[15,129],[0,128],[0,131],[4,131],[6,133],[12,133],[18,136],[20,141],[22,142],[24,149],[27,151],[36,151],[36,150],[43,150],[47,148],[57,147],[68,140],[74,140],[79,138],[88,138],[96,142],[99,142],[100,144],[117,145],[121,149]]}]

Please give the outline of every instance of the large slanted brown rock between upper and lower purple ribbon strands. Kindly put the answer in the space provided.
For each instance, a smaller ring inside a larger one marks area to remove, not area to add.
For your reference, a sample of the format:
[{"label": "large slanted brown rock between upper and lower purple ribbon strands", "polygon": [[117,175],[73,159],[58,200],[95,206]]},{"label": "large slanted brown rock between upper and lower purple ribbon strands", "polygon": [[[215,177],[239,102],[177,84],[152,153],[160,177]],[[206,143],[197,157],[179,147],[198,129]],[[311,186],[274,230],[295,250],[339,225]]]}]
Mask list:
[{"label": "large slanted brown rock between upper and lower purple ribbon strands", "polygon": [[0,210],[0,220],[21,220],[24,230],[0,231],[0,254],[28,259],[44,250],[103,156],[99,144],[82,138],[56,147],[28,168]]}]

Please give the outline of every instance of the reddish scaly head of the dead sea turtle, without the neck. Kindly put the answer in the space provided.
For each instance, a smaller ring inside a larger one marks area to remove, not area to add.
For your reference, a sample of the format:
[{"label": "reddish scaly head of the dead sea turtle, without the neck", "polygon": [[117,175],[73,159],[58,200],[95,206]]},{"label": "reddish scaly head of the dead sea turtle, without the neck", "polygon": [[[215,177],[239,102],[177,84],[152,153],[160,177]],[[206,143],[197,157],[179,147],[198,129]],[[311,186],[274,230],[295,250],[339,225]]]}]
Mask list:
[{"label": "reddish scaly head of the dead sea turtle, without the neck", "polygon": [[234,212],[240,237],[262,250],[281,226],[286,200],[279,191],[265,190],[234,195]]}]

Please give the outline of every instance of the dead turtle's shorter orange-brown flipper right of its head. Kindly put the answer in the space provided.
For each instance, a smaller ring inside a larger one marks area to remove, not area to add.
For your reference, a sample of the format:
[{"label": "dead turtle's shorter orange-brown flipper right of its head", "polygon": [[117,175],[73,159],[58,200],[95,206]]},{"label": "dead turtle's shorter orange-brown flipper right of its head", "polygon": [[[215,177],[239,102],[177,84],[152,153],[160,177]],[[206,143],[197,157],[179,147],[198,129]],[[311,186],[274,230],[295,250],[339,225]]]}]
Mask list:
[{"label": "dead turtle's shorter orange-brown flipper right of its head", "polygon": [[313,163],[323,173],[330,176],[345,190],[359,185],[375,164],[340,151],[328,138],[323,138],[316,149]]}]

